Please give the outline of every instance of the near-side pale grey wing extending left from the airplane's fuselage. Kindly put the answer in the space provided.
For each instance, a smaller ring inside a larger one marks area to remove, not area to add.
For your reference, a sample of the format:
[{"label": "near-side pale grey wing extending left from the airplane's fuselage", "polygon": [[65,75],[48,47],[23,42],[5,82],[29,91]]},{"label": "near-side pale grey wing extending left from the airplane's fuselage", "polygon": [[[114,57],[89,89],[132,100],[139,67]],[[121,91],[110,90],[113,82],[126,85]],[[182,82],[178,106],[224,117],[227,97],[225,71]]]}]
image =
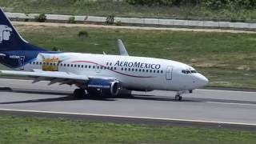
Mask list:
[{"label": "near-side pale grey wing extending left from the airplane's fuselage", "polygon": [[34,72],[28,71],[14,71],[14,70],[0,70],[2,74],[11,74],[11,75],[20,75],[20,76],[29,76],[34,78],[34,82],[40,81],[50,81],[48,85],[59,82],[60,85],[77,85],[82,86],[85,82],[89,80],[88,77],[78,74],[66,73],[66,72],[54,72],[54,71],[42,71],[34,70]]}]

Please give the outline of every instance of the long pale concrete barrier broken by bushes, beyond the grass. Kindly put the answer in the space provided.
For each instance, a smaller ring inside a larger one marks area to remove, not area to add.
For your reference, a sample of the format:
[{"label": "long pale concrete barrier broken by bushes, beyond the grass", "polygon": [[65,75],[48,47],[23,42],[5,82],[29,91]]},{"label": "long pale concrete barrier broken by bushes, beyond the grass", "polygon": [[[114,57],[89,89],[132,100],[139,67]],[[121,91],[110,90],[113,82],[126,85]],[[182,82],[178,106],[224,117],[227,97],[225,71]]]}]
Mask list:
[{"label": "long pale concrete barrier broken by bushes, beyond the grass", "polygon": [[[35,19],[39,14],[22,14],[22,13],[6,13],[11,19]],[[50,21],[68,21],[70,17],[74,17],[76,22],[106,22],[106,17],[97,16],[74,16],[61,14],[46,14],[47,20]],[[158,19],[158,18],[114,18],[114,22],[122,22],[124,24],[150,25],[150,26],[186,26],[186,27],[206,27],[206,28],[231,28],[256,30],[256,23],[246,22],[213,22],[213,21],[191,21],[177,19]]]}]

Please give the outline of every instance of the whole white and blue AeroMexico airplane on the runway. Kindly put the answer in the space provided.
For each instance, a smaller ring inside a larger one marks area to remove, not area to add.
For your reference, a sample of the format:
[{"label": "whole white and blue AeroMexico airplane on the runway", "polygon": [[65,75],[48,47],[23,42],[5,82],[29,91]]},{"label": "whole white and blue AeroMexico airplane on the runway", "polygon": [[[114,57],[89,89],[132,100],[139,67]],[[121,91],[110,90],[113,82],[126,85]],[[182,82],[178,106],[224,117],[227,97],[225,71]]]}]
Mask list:
[{"label": "whole white and blue AeroMexico airplane on the runway", "polygon": [[209,82],[182,62],[130,56],[121,40],[118,49],[120,55],[48,51],[26,42],[0,10],[0,62],[12,69],[0,70],[2,74],[50,81],[49,86],[75,85],[74,98],[116,96],[120,90],[170,90],[181,101],[182,94]]}]

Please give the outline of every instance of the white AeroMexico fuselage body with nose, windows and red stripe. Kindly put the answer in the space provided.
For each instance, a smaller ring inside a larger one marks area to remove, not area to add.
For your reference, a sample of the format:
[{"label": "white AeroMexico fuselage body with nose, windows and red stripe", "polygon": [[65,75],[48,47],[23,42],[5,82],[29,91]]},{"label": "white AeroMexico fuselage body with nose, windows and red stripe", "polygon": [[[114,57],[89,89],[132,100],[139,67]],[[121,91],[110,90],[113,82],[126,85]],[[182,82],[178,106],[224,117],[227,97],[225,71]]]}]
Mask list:
[{"label": "white AeroMexico fuselage body with nose, windows and red stripe", "polygon": [[41,53],[32,62],[22,66],[25,71],[35,69],[62,71],[89,78],[114,78],[129,90],[194,90],[208,83],[207,78],[198,74],[193,67],[159,58]]}]

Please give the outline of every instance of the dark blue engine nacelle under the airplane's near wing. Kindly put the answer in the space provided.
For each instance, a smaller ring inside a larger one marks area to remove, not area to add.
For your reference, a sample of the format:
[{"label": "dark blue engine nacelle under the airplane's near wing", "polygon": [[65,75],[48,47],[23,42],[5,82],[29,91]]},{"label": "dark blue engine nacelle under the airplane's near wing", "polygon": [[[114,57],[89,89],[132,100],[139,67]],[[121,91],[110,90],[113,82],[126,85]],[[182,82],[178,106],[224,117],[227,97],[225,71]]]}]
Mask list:
[{"label": "dark blue engine nacelle under the airplane's near wing", "polygon": [[118,95],[119,82],[112,79],[91,78],[87,85],[89,94]]}]

